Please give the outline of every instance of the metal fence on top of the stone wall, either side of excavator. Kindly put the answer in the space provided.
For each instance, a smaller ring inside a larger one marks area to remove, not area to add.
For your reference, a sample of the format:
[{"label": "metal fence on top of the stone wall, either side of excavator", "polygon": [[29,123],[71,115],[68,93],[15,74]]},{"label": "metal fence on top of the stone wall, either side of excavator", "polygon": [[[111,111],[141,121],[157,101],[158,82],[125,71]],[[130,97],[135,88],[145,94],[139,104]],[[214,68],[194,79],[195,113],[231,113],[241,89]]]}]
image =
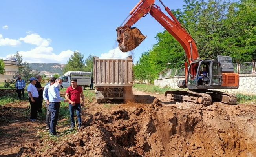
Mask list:
[{"label": "metal fence on top of the stone wall, either side of excavator", "polygon": [[[234,63],[233,64],[234,73],[256,73],[256,62],[245,62],[245,63]],[[159,79],[169,77],[169,76],[184,76],[185,68],[181,69],[170,69],[166,67],[159,73]]]}]

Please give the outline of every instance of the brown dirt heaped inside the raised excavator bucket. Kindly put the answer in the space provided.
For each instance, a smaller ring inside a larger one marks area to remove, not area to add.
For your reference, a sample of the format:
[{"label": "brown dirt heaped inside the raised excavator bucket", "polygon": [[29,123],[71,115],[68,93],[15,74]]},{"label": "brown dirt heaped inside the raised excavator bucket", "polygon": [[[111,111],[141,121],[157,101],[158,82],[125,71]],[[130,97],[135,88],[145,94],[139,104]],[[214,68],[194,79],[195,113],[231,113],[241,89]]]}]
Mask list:
[{"label": "brown dirt heaped inside the raised excavator bucket", "polygon": [[[144,40],[145,36],[141,34],[141,31],[134,28],[126,28],[125,32],[130,33],[128,40],[124,40],[124,46],[128,51],[135,49]],[[122,50],[121,50],[122,51]]]}]

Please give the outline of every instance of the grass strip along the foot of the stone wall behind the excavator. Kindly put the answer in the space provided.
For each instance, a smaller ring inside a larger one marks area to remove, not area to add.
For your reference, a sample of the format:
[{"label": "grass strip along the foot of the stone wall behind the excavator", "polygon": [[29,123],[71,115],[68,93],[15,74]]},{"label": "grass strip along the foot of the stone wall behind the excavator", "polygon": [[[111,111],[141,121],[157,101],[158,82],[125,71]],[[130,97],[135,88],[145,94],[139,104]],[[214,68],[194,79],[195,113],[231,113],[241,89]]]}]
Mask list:
[{"label": "grass strip along the foot of the stone wall behind the excavator", "polygon": [[[133,88],[140,91],[145,91],[150,93],[159,93],[159,94],[164,94],[165,91],[184,90],[184,89],[172,89],[167,87],[160,88],[158,86],[154,86],[154,85],[151,86],[148,84],[133,84]],[[236,97],[238,98],[238,103],[256,102],[256,95],[245,95],[245,94],[237,93]]]}]

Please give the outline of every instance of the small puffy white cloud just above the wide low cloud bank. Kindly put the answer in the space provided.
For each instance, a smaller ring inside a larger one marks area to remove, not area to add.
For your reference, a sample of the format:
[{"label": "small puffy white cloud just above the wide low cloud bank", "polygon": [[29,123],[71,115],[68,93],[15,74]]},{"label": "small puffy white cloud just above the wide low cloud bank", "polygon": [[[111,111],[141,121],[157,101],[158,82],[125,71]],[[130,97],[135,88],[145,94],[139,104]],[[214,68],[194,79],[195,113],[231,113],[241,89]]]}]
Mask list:
[{"label": "small puffy white cloud just above the wide low cloud bank", "polygon": [[34,44],[37,46],[44,46],[44,47],[47,47],[51,44],[51,39],[41,38],[40,35],[36,33],[27,35],[25,38],[20,38],[20,40],[29,44]]}]

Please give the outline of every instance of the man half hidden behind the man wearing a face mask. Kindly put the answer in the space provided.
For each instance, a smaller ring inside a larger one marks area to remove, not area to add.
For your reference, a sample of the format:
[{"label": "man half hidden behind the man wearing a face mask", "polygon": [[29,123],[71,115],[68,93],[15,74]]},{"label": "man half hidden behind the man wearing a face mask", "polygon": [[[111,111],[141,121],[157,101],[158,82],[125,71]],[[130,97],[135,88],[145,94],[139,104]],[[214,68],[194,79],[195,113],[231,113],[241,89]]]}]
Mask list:
[{"label": "man half hidden behind the man wearing a face mask", "polygon": [[49,110],[49,96],[48,96],[48,89],[51,85],[55,83],[56,78],[50,78],[50,82],[44,86],[44,92],[43,92],[43,98],[45,102],[45,107],[46,107],[46,130],[50,129],[50,119],[51,119],[51,112]]}]

